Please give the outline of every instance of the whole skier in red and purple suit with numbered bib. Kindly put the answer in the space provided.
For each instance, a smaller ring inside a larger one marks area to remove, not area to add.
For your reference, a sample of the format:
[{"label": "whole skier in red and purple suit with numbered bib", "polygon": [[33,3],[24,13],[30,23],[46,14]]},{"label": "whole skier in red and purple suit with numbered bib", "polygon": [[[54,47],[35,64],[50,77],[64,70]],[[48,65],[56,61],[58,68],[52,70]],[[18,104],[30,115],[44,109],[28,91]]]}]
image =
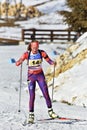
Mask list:
[{"label": "whole skier in red and purple suit with numbered bib", "polygon": [[48,92],[47,83],[44,72],[42,70],[42,59],[45,59],[49,64],[56,65],[44,50],[39,50],[39,42],[33,41],[28,45],[28,51],[25,52],[21,58],[16,62],[19,66],[25,59],[28,62],[28,89],[29,89],[29,119],[28,123],[34,122],[34,101],[35,101],[35,87],[38,83],[48,107],[48,114],[51,118],[57,118],[57,114],[52,109],[52,103]]}]

